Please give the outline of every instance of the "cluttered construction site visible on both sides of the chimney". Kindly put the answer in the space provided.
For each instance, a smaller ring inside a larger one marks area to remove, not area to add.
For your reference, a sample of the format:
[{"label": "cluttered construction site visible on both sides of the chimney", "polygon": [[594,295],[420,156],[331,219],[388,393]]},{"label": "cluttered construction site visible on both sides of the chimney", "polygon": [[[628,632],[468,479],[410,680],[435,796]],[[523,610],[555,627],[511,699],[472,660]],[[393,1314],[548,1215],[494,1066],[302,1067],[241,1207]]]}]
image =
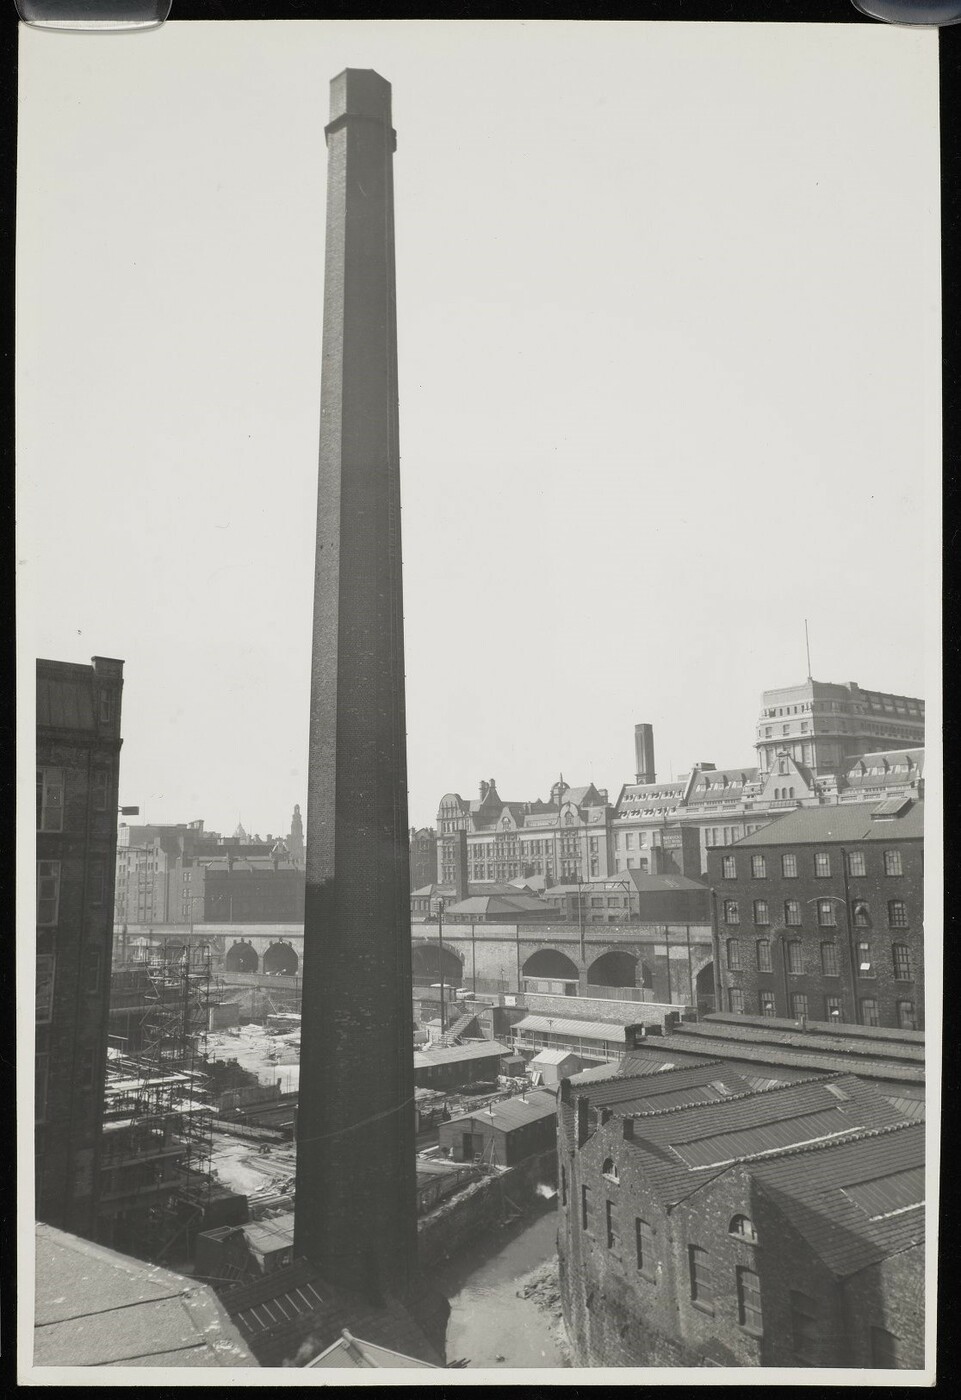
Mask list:
[{"label": "cluttered construction site visible on both sides of the chimney", "polygon": [[[293,1246],[300,1008],[286,988],[261,988],[256,1008],[247,991],[212,974],[203,944],[171,939],[116,967],[111,995],[101,1242],[226,1285]],[[528,1092],[506,1046],[468,1036],[462,1014],[412,1047],[423,1225],[552,1145],[553,1095]]]}]

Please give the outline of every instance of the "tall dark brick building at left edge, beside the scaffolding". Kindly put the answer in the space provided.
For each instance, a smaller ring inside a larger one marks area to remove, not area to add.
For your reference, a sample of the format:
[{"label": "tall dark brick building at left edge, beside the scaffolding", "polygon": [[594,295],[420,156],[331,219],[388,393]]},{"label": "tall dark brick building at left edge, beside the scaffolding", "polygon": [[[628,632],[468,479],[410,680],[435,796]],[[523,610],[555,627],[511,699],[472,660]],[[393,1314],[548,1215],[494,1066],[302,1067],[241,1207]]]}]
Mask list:
[{"label": "tall dark brick building at left edge, beside the scaffolding", "polygon": [[36,662],[36,1215],[92,1235],[123,662]]}]

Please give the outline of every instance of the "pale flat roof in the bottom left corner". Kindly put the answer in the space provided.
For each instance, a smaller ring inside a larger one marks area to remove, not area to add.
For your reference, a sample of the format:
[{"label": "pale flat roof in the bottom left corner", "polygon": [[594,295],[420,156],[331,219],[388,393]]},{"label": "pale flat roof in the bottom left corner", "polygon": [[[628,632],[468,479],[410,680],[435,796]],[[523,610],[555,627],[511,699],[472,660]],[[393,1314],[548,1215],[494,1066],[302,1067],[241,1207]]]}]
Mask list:
[{"label": "pale flat roof in the bottom left corner", "polygon": [[36,1366],[255,1366],[213,1289],[36,1226]]}]

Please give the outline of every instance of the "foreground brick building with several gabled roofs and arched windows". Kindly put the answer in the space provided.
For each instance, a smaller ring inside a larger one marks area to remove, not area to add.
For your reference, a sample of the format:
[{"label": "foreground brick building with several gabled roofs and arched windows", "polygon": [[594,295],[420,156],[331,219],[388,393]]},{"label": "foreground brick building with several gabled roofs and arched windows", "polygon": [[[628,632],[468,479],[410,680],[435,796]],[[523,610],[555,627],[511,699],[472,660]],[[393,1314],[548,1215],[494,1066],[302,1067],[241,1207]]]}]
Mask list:
[{"label": "foreground brick building with several gabled roofs and arched windows", "polygon": [[852,1075],[562,1085],[579,1365],[923,1365],[923,1126]]}]

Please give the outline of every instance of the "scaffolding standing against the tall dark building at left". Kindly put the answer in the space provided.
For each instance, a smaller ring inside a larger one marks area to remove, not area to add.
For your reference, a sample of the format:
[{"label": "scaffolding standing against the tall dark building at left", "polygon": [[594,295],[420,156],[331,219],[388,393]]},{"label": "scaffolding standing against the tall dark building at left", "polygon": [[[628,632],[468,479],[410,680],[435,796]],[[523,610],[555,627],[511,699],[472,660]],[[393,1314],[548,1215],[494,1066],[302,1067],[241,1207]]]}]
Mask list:
[{"label": "scaffolding standing against the tall dark building at left", "polygon": [[140,972],[139,1046],[106,1081],[101,1208],[147,1259],[186,1253],[212,1189],[213,1107],[206,1088],[210,948],[168,939]]}]

